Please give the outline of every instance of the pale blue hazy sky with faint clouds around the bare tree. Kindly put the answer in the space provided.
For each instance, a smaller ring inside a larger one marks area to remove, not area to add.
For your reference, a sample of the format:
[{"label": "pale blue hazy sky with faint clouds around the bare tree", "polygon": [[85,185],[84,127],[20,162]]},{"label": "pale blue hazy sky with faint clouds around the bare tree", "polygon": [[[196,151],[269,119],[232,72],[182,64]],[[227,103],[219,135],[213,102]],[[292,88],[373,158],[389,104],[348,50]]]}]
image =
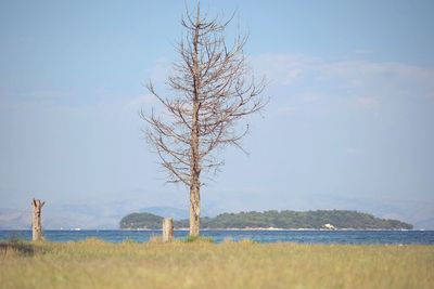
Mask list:
[{"label": "pale blue hazy sky with faint clouds around the bare tree", "polygon": [[[205,203],[317,209],[317,195],[434,203],[433,1],[203,6],[238,11],[228,39],[248,30],[251,65],[270,81],[270,103],[244,141],[251,154],[222,154]],[[165,91],[183,13],[175,0],[0,2],[1,208],[31,196],[186,206],[186,187],[164,185],[138,116],[156,104],[143,83]]]}]

